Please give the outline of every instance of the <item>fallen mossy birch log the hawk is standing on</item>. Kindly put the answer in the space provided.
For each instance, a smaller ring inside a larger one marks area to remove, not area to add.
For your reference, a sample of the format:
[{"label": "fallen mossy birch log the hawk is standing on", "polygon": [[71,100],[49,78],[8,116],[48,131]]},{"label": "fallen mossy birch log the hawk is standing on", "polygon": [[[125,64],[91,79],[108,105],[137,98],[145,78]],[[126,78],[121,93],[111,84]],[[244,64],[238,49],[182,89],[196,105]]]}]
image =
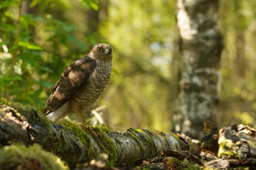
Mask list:
[{"label": "fallen mossy birch log the hawk is standing on", "polygon": [[184,148],[174,133],[130,128],[121,134],[68,121],[53,123],[33,108],[7,102],[0,108],[0,147],[16,142],[26,146],[37,143],[69,166],[90,162],[102,152],[109,155],[108,166],[129,166],[134,159],[156,157],[165,149]]}]

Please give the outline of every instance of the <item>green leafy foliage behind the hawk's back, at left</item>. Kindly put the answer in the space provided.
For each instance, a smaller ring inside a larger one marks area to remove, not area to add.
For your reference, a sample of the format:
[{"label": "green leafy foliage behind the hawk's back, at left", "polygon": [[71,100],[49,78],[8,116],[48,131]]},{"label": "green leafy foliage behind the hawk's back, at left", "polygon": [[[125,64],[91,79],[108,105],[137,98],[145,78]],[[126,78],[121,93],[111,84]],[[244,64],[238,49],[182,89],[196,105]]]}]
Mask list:
[{"label": "green leafy foliage behind the hawk's back, at left", "polygon": [[[96,5],[96,4],[95,4]],[[64,1],[1,1],[0,96],[43,106],[63,67],[87,50]]]}]

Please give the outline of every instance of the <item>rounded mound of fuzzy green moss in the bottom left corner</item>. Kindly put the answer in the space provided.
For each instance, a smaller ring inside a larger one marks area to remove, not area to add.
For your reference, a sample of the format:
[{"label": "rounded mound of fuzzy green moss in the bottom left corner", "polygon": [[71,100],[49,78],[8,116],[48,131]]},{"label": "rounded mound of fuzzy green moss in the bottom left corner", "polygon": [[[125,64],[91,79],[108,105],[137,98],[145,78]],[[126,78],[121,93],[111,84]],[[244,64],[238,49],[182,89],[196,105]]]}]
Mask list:
[{"label": "rounded mound of fuzzy green moss in the bottom left corner", "polygon": [[0,149],[0,153],[1,169],[17,169],[18,166],[25,166],[26,169],[33,169],[35,166],[40,169],[69,169],[60,158],[36,144],[31,147],[6,146]]}]

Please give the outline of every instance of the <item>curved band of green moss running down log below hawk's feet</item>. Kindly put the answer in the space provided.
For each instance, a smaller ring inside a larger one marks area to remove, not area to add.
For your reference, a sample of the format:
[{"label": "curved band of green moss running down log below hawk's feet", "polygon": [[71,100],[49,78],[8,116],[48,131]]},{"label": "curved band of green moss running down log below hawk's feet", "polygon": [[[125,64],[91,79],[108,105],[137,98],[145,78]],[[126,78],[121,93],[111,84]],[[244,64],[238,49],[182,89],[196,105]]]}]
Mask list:
[{"label": "curved band of green moss running down log below hawk's feet", "polygon": [[114,166],[117,162],[117,147],[114,145],[114,142],[107,136],[105,131],[102,131],[100,128],[86,128],[87,132],[93,135],[93,138],[97,140],[100,145],[102,152],[105,152],[109,155],[107,159],[107,166]]}]

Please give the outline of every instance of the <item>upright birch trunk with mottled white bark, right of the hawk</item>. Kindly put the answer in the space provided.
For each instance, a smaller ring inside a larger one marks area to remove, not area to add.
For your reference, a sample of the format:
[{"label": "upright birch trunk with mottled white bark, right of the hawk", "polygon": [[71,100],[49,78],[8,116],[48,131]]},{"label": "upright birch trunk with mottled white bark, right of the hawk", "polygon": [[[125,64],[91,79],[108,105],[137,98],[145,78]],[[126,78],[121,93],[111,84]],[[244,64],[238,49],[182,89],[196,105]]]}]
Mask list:
[{"label": "upright birch trunk with mottled white bark, right of the hawk", "polygon": [[178,0],[180,79],[174,130],[201,137],[203,122],[215,122],[220,98],[218,0]]}]

